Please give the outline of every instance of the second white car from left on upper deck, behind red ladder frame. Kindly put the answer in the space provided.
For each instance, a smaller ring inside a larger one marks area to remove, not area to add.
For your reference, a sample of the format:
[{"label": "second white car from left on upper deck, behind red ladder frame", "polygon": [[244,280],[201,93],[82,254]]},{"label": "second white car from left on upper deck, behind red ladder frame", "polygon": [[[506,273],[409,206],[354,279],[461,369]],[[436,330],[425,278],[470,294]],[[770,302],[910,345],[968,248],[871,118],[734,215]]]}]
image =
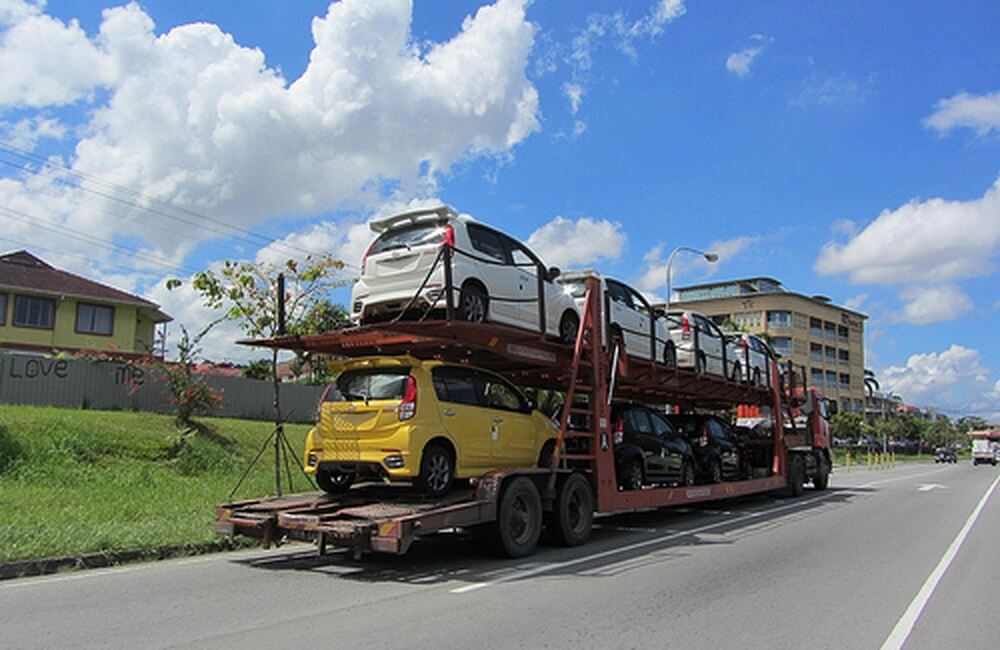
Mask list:
[{"label": "second white car from left on upper deck, behind red ladder frame", "polygon": [[[666,344],[670,340],[666,325],[662,318],[657,318],[649,302],[638,291],[624,282],[602,277],[593,270],[573,271],[562,275],[559,282],[566,287],[566,292],[576,300],[582,316],[586,300],[586,278],[595,277],[600,280],[601,313],[607,315],[604,328],[605,344],[607,337],[620,337],[625,342],[625,350],[629,356],[658,361],[673,365],[674,359],[664,356]],[[650,332],[654,332],[650,336]],[[655,339],[655,341],[654,341]]]}]

